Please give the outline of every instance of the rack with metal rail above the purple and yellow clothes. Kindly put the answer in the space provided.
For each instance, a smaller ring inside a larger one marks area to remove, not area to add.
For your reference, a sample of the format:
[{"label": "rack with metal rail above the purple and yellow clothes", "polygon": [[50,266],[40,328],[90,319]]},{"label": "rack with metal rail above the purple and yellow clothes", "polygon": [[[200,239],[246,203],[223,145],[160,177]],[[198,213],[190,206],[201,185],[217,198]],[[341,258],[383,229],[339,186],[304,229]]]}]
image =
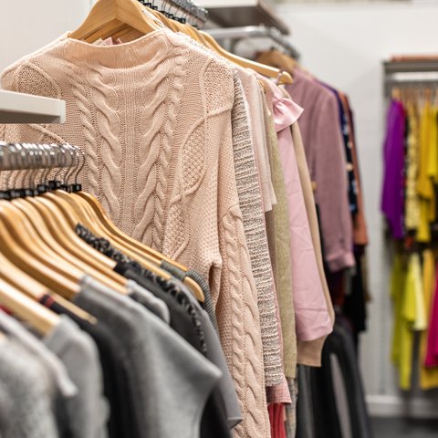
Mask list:
[{"label": "rack with metal rail above the purple and yellow clothes", "polygon": [[385,61],[384,92],[388,98],[394,87],[431,87],[438,85],[438,58],[401,57]]}]

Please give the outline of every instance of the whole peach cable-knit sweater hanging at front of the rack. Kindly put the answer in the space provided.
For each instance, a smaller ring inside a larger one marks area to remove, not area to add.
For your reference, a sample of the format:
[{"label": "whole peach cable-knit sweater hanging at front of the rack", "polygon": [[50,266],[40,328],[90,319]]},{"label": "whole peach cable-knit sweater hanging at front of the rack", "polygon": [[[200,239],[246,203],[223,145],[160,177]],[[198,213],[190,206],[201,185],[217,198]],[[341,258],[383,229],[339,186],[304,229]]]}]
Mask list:
[{"label": "whole peach cable-knit sweater hanging at front of the rack", "polygon": [[66,142],[122,231],[191,266],[212,288],[244,421],[267,438],[262,339],[233,165],[234,72],[162,29],[117,46],[70,38],[16,62],[4,89],[67,102],[62,125],[8,125],[6,141]]}]

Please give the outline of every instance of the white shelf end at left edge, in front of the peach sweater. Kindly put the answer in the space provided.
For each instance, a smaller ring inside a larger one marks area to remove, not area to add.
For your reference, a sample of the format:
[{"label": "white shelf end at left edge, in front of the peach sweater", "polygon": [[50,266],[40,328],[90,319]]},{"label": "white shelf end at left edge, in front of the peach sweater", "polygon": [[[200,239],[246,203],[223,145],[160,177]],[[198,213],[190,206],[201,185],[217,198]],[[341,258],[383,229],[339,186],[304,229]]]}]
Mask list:
[{"label": "white shelf end at left edge, in front of the peach sweater", "polygon": [[0,89],[0,123],[64,123],[66,102]]}]

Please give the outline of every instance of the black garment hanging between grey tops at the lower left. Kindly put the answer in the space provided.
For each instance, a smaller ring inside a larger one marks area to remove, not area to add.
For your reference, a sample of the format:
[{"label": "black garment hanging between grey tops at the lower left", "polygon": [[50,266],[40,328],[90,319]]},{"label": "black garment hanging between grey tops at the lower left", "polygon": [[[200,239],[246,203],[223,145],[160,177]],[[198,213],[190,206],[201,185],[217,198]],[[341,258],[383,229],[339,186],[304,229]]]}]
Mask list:
[{"label": "black garment hanging between grey tops at the lower left", "polygon": [[98,321],[91,324],[89,321],[79,318],[68,308],[64,308],[46,295],[40,298],[40,302],[50,308],[58,315],[67,315],[87,332],[96,342],[99,349],[99,360],[102,367],[104,394],[110,403],[110,416],[108,432],[110,438],[139,437],[136,430],[136,422],[133,421],[131,412],[134,412],[130,405],[129,389],[127,386],[128,373],[120,360],[120,345],[114,337],[110,328]]}]

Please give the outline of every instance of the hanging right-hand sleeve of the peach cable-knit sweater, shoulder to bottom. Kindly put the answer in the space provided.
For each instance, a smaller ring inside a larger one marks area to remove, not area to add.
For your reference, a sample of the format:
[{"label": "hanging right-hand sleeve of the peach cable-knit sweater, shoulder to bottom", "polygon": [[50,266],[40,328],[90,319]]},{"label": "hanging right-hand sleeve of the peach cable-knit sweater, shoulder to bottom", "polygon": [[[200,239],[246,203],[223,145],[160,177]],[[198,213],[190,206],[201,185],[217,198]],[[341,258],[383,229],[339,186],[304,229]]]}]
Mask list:
[{"label": "hanging right-hand sleeve of the peach cable-knit sweater, shoulder to bottom", "polygon": [[[214,159],[217,174],[214,196],[217,223],[209,238],[218,239],[219,259],[210,270],[209,280],[221,343],[241,403],[243,422],[236,426],[235,436],[268,438],[270,426],[257,291],[233,164],[234,71],[214,62],[204,70],[202,78],[208,112],[205,147],[211,151],[209,161]],[[227,106],[225,99],[232,99],[231,106]]]}]

